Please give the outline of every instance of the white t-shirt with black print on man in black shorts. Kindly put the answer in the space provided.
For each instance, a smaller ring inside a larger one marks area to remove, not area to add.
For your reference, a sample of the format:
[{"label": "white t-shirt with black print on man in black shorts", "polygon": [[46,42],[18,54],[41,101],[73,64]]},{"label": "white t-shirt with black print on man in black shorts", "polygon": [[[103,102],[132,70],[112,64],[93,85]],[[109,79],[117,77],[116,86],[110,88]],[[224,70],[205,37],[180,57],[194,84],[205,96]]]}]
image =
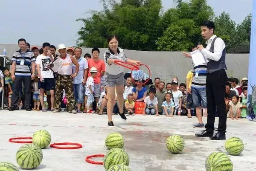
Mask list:
[{"label": "white t-shirt with black print on man in black shorts", "polygon": [[35,61],[36,64],[40,64],[41,77],[54,78],[52,70],[47,68],[47,65],[51,63],[49,56],[39,55]]}]

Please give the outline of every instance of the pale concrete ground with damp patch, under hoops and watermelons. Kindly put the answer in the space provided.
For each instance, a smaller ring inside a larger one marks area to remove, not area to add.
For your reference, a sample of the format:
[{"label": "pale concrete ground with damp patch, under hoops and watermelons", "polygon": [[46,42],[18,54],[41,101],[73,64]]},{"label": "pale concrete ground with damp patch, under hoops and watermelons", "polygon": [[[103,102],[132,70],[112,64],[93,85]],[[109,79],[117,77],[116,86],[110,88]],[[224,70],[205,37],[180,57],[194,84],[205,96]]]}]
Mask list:
[{"label": "pale concrete ground with damp patch, under hoops and watermelons", "polygon": [[[103,165],[93,165],[84,159],[87,155],[105,154],[108,151],[104,147],[105,138],[112,132],[123,135],[124,149],[130,157],[132,171],[205,171],[204,163],[209,154],[215,151],[227,154],[224,140],[212,141],[194,136],[203,130],[192,127],[197,122],[195,117],[136,115],[122,122],[119,116],[113,116],[113,121],[116,128],[107,127],[106,115],[1,110],[0,162],[17,165],[15,155],[22,144],[11,143],[8,139],[32,136],[40,129],[49,131],[51,143],[76,142],[83,145],[83,148],[76,150],[43,149],[43,160],[35,169],[40,171],[104,171]],[[227,138],[238,136],[247,143],[240,156],[229,155],[234,171],[256,170],[255,128],[256,122],[246,119],[227,120]],[[171,154],[167,150],[165,141],[172,134],[183,136],[185,148],[182,154]],[[102,158],[95,160],[100,161]]]}]

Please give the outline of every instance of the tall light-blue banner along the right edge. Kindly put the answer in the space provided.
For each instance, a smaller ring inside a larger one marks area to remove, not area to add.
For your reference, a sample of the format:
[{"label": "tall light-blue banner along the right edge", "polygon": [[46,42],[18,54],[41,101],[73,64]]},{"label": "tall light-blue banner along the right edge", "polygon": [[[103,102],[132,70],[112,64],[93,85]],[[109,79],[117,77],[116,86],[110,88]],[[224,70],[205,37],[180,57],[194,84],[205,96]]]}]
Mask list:
[{"label": "tall light-blue banner along the right edge", "polygon": [[256,0],[253,0],[247,96],[247,119],[256,121],[256,40],[254,38],[256,38]]}]

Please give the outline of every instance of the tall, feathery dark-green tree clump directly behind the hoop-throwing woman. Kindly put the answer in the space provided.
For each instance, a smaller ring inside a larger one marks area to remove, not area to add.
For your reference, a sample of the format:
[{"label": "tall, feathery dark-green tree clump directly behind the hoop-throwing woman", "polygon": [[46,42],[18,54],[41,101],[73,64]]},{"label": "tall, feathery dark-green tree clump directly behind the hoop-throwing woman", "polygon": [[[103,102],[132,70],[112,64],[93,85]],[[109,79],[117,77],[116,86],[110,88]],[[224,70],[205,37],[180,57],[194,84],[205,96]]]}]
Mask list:
[{"label": "tall, feathery dark-green tree clump directly behind the hoop-throwing woman", "polygon": [[107,47],[106,38],[117,34],[125,49],[155,50],[160,36],[161,0],[102,0],[104,10],[82,21],[79,46]]}]

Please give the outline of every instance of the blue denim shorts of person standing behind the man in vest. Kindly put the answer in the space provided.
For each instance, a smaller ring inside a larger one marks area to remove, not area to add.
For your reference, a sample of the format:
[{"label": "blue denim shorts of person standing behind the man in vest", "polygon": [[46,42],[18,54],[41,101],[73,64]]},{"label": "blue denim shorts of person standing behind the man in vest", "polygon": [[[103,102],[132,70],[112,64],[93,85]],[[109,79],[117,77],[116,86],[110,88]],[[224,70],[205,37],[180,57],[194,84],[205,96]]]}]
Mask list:
[{"label": "blue denim shorts of person standing behind the man in vest", "polygon": [[193,87],[191,89],[194,107],[207,108],[206,89],[196,89]]}]

